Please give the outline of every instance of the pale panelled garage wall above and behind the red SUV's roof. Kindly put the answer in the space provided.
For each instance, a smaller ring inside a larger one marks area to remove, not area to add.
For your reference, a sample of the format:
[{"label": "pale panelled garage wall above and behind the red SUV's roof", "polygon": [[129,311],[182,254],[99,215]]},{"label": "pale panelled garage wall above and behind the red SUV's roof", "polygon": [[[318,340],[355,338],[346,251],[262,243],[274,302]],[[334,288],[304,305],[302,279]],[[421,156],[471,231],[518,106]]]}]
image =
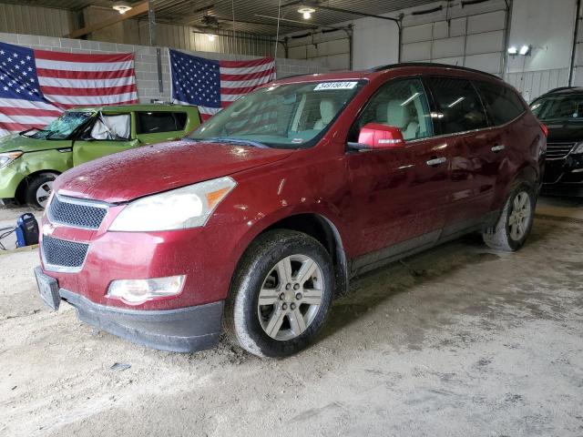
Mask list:
[{"label": "pale panelled garage wall above and behind the red SUV's roof", "polygon": [[[431,5],[397,11],[387,16],[404,13],[402,60],[439,62],[468,66],[503,76],[516,86],[527,100],[557,86],[568,85],[568,68],[575,30],[577,0],[514,0],[508,45],[534,46],[531,56],[509,56],[506,72],[502,71],[506,55],[504,36],[506,2],[490,0],[477,5],[461,7],[460,2],[439,1]],[[435,6],[443,10],[412,15]],[[353,68],[363,69],[397,62],[398,31],[389,21],[360,18],[339,25],[353,25]],[[335,36],[335,34],[332,34]],[[332,36],[329,36],[332,37]],[[310,44],[305,38],[303,44]],[[347,48],[347,41],[338,41],[335,47]],[[297,48],[291,57],[317,58],[334,69],[347,69],[344,55],[329,63],[327,46],[317,50]],[[579,26],[578,54],[574,85],[583,86],[583,23]]]}]

